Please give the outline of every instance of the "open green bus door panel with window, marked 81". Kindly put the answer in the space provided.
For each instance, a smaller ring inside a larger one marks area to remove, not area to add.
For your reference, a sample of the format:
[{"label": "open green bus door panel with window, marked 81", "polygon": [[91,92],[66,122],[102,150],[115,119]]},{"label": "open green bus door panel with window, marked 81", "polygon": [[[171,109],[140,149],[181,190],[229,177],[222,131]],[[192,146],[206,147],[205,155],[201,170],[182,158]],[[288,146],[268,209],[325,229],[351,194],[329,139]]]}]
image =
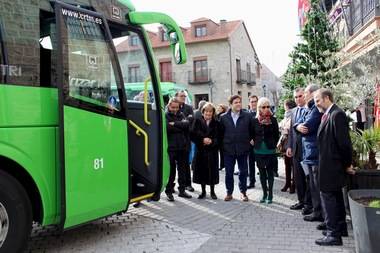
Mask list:
[{"label": "open green bus door panel with window, marked 81", "polygon": [[128,128],[120,66],[106,19],[60,2],[55,12],[61,223],[68,228],[126,209]]}]

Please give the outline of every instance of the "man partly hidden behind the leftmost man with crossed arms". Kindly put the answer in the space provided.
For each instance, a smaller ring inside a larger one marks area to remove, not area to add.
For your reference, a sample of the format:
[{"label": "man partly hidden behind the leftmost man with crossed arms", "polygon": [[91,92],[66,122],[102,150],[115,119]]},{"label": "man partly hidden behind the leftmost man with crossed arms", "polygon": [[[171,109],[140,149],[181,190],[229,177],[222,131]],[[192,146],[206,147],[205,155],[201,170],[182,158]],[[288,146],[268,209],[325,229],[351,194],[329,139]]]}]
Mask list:
[{"label": "man partly hidden behind the leftmost man with crossed arms", "polygon": [[[193,122],[193,117],[194,117],[194,111],[193,111],[193,107],[191,105],[188,105],[185,103],[186,101],[186,91],[184,90],[181,90],[181,91],[178,91],[176,94],[175,94],[175,97],[176,99],[179,101],[180,105],[179,105],[179,111],[182,112],[185,117],[189,120],[190,124]],[[188,140],[188,147],[191,146],[191,142],[190,142],[190,136],[189,134],[187,134],[187,140]],[[187,151],[188,152],[188,155],[187,157],[190,158],[190,150]],[[190,172],[190,163],[189,163],[189,159],[188,159],[188,162],[187,162],[187,168],[186,168],[186,190],[187,191],[190,191],[190,192],[193,192],[194,191],[194,188],[191,186],[191,172]]]}]

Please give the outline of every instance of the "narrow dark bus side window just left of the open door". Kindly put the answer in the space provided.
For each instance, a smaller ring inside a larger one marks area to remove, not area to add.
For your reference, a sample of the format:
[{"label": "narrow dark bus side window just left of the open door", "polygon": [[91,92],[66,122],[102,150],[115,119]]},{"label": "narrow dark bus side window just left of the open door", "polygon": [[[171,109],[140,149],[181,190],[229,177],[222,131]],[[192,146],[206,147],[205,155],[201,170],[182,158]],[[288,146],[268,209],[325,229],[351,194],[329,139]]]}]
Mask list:
[{"label": "narrow dark bus side window just left of the open door", "polygon": [[55,15],[40,11],[40,86],[57,87]]}]

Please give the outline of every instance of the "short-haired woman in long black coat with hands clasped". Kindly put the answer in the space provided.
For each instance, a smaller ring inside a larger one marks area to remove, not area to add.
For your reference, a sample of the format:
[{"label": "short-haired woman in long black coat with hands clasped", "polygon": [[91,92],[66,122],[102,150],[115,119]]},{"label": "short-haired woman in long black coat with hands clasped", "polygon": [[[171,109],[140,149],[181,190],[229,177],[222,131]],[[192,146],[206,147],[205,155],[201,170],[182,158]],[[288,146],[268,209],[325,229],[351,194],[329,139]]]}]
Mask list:
[{"label": "short-haired woman in long black coat with hands clasped", "polygon": [[190,130],[191,140],[196,145],[193,160],[193,182],[201,184],[202,193],[198,199],[206,197],[206,185],[210,185],[212,199],[217,199],[214,185],[219,183],[218,170],[218,122],[215,107],[206,103],[201,109],[202,117],[195,119]]}]

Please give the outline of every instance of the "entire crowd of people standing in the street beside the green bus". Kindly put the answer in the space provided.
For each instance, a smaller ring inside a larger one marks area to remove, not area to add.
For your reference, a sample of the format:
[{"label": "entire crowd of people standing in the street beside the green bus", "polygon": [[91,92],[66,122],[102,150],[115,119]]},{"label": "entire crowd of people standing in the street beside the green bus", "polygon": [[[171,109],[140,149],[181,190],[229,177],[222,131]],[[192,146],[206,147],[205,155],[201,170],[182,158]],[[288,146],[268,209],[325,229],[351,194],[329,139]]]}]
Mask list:
[{"label": "entire crowd of people standing in the street beside the green bus", "polygon": [[[167,105],[170,178],[165,193],[169,201],[174,201],[176,171],[178,196],[191,198],[186,192],[194,191],[190,163],[193,182],[202,187],[199,199],[206,197],[206,185],[211,198],[217,199],[214,187],[219,183],[219,167],[225,167],[224,200],[232,200],[237,163],[240,199],[248,201],[247,189],[255,187],[256,164],[263,192],[260,202],[270,204],[277,156],[283,152],[286,180],[281,191],[297,192],[298,198],[290,209],[302,210],[305,221],[321,222],[317,229],[324,237],[316,244],[342,245],[341,237],[347,236],[342,187],[346,173],[352,172],[352,146],[348,119],[334,104],[330,90],[315,84],[296,89],[294,101],[284,103],[280,124],[265,97],[250,96],[249,110],[242,108],[239,95],[229,98],[228,108],[202,101],[195,113],[185,98],[185,92],[177,92]],[[195,154],[189,161],[191,142]]]}]

